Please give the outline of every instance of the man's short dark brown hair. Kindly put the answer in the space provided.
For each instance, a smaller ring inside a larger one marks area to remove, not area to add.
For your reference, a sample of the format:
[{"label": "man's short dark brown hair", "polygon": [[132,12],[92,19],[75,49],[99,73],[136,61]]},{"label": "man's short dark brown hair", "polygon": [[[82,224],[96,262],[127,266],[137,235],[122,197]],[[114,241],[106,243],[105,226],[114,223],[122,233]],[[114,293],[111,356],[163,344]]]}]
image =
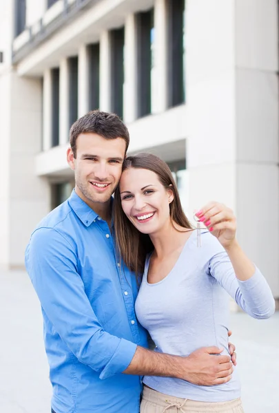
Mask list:
[{"label": "man's short dark brown hair", "polygon": [[99,110],[93,110],[82,116],[70,129],[70,145],[76,158],[76,139],[81,134],[98,134],[105,139],[123,138],[126,142],[127,152],[130,136],[127,127],[116,114],[109,114]]}]

